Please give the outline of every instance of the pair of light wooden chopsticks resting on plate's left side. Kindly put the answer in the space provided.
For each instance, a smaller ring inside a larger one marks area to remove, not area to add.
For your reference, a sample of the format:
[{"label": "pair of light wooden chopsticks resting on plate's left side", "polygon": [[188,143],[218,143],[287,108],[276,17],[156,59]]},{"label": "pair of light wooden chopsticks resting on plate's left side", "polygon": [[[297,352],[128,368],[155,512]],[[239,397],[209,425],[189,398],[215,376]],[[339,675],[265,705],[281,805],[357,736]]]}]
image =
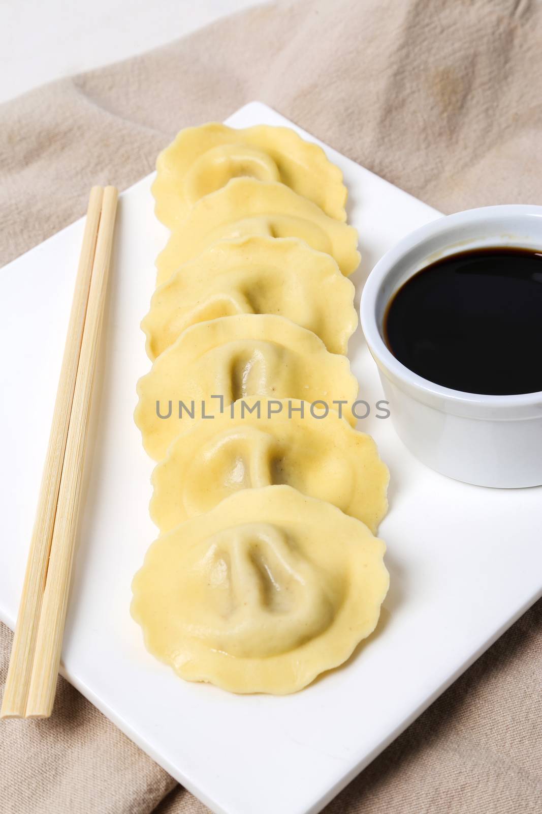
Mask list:
[{"label": "pair of light wooden chopsticks resting on plate's left side", "polygon": [[47,718],[53,710],[116,208],[114,186],[93,187],[2,718]]}]

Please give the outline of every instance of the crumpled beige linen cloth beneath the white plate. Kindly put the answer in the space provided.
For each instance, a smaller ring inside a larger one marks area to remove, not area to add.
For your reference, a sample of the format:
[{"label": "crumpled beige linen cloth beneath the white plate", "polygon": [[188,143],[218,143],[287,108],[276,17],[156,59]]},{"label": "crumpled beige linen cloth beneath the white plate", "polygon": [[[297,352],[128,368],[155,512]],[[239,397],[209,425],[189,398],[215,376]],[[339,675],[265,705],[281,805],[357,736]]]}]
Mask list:
[{"label": "crumpled beige linen cloth beneath the white plate", "polygon": [[[444,212],[542,203],[540,3],[279,3],[0,107],[0,263],[255,98]],[[2,628],[2,683],[10,643]],[[539,603],[327,814],[540,814],[541,676]],[[207,811],[65,681],[50,720],[1,724],[0,755],[2,814]]]}]

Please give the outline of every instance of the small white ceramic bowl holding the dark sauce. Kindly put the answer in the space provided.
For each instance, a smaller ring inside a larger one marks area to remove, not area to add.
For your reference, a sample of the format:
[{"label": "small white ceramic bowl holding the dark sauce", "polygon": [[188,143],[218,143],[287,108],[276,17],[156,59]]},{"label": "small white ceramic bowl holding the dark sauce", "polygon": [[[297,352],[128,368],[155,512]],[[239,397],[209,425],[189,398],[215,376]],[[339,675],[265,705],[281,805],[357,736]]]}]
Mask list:
[{"label": "small white ceramic bowl holding the dark sauce", "polygon": [[[542,252],[542,207],[469,209],[408,234],[369,275],[362,328],[397,434],[420,461],[469,484],[537,486],[542,484],[542,392],[483,396],[441,387],[402,365],[384,343],[384,312],[405,280],[438,257],[488,246]],[[533,357],[532,363],[542,365],[542,360]]]}]

